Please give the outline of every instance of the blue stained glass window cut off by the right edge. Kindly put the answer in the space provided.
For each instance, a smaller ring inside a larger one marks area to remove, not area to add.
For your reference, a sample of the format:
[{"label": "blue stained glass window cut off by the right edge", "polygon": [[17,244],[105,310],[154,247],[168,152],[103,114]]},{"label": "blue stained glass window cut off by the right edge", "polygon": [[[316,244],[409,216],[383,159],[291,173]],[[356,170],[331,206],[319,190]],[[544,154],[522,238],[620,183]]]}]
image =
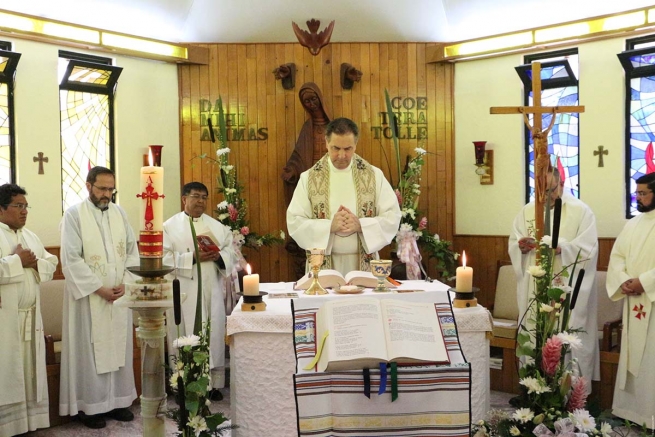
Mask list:
[{"label": "blue stained glass window cut off by the right edge", "polygon": [[627,50],[618,55],[626,82],[626,217],[639,214],[635,182],[655,172],[655,37],[627,41]]}]

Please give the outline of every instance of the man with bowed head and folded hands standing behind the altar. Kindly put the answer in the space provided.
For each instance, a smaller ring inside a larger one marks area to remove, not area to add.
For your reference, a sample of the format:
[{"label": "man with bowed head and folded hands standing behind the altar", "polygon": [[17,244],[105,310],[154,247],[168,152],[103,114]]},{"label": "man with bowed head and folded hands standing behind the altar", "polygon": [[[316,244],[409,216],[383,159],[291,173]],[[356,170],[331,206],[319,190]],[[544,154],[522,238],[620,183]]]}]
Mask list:
[{"label": "man with bowed head and folded hands standing behind the altar", "polygon": [[382,171],[355,154],[359,130],[347,118],[328,124],[328,153],[300,180],[287,209],[289,235],[303,249],[325,249],[325,268],[370,271],[370,260],[400,225],[398,199]]}]

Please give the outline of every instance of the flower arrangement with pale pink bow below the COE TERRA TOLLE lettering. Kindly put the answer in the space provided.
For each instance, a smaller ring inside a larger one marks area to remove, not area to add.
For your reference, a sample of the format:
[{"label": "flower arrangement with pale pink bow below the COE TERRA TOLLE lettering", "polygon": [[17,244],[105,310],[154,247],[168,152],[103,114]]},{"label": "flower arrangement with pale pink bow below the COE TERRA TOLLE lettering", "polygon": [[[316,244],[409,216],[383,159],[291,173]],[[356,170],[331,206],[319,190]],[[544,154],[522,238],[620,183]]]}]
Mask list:
[{"label": "flower arrangement with pale pink bow below the COE TERRA TOLLE lettering", "polygon": [[[395,189],[398,204],[402,213],[400,228],[396,234],[398,244],[398,258],[407,266],[407,279],[419,279],[423,266],[419,246],[427,252],[429,258],[437,262],[437,270],[446,280],[455,275],[456,261],[459,254],[451,249],[451,242],[439,238],[439,234],[428,232],[428,219],[421,217],[418,210],[419,196],[421,195],[421,172],[423,170],[426,150],[417,147],[413,157],[407,156],[404,170],[400,170],[400,147],[398,144],[398,128],[391,107],[389,93],[385,90],[387,113],[391,121],[392,140],[396,154],[396,165],[400,175],[398,186]],[[384,149],[383,149],[384,150]],[[421,217],[421,218],[419,218]],[[427,274],[423,272],[427,277]]]}]

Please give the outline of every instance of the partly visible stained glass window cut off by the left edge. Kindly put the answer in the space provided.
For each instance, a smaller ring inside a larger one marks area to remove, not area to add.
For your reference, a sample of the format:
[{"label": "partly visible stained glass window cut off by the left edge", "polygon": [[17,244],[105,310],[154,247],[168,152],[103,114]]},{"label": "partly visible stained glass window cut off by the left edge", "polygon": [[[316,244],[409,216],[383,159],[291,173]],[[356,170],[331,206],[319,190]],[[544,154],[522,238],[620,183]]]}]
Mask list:
[{"label": "partly visible stained glass window cut off by the left edge", "polygon": [[0,184],[14,181],[14,75],[20,53],[11,44],[0,41]]}]

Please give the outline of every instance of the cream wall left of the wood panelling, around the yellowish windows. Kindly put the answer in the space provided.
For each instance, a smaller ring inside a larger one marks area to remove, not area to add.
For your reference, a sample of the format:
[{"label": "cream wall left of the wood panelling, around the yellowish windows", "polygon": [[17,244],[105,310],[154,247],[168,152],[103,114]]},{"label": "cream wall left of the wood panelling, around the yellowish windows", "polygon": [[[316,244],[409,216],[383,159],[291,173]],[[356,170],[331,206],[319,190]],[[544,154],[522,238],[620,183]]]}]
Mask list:
[{"label": "cream wall left of the wood panelling, around the yellowish windows", "polygon": [[[3,40],[12,41],[13,50],[22,54],[14,93],[16,182],[27,190],[32,206],[27,227],[36,232],[46,246],[58,246],[62,216],[58,50],[107,55],[21,39]],[[115,65],[123,67],[115,100],[114,170],[118,203],[138,232],[138,176],[149,144],[164,145],[164,216],[180,210],[177,66],[126,56],[116,56]],[[48,157],[43,175],[37,174],[38,163],[32,159],[38,152]]]}]

